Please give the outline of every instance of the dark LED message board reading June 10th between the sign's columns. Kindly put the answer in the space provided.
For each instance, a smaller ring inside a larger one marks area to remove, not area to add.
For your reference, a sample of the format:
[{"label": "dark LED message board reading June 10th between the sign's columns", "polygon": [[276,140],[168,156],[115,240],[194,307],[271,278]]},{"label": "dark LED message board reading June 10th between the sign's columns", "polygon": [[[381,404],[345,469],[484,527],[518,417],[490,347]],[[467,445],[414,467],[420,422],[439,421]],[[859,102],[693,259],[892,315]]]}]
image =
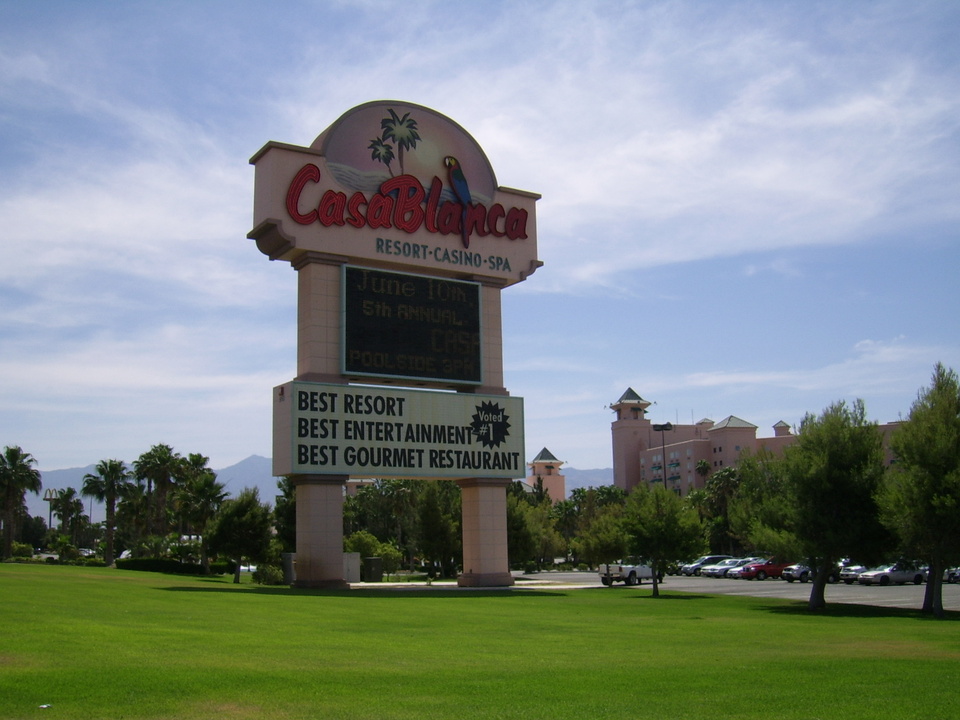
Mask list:
[{"label": "dark LED message board reading June 10th between the sign's columns", "polygon": [[343,374],[479,384],[480,285],[347,265]]}]

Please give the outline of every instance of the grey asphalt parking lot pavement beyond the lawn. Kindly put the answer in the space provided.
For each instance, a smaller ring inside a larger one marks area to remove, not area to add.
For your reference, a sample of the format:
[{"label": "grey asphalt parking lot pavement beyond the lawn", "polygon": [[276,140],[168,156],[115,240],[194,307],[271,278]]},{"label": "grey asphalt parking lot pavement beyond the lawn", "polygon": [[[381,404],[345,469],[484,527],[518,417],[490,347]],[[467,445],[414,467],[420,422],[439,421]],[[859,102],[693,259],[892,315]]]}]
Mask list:
[{"label": "grey asphalt parking lot pavement beyond the lawn", "polygon": [[[567,587],[600,587],[600,578],[596,573],[587,572],[545,572],[530,575],[517,575],[516,587],[527,582],[557,584]],[[705,577],[667,576],[662,585],[664,590],[691,593],[713,593],[722,595],[744,595],[751,597],[769,597],[788,600],[808,600],[810,584],[784,580],[726,580]],[[879,607],[919,609],[923,605],[925,585],[845,585],[836,583],[826,589],[827,604],[853,603],[857,605],[876,605]],[[634,587],[615,585],[611,590],[622,592],[650,592],[650,583]],[[960,584],[943,584],[943,607],[945,610],[960,611]]]}]

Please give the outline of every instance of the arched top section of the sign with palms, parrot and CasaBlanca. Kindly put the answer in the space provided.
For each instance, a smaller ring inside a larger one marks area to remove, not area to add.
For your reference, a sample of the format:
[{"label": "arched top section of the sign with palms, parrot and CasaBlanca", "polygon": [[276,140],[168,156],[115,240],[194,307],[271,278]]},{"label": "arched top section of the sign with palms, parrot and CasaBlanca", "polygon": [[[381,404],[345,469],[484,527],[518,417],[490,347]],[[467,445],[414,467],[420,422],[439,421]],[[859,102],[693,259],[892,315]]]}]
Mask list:
[{"label": "arched top section of the sign with palms, parrot and CasaBlanca", "polygon": [[360,105],[310,147],[269,142],[251,162],[248,237],[271,259],[323,253],[501,287],[541,264],[540,196],[498,186],[477,142],[429,108]]}]

